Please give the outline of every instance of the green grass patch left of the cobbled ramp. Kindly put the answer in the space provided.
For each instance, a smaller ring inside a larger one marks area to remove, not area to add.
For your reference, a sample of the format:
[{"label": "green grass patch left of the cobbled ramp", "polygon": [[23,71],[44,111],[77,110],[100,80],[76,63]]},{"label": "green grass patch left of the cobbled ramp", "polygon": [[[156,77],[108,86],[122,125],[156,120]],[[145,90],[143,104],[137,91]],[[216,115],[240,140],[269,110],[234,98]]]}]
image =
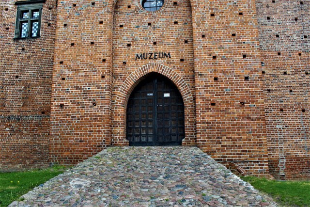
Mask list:
[{"label": "green grass patch left of the cobbled ramp", "polygon": [[0,173],[0,207],[8,206],[21,195],[65,170],[65,167],[55,166],[44,170]]}]

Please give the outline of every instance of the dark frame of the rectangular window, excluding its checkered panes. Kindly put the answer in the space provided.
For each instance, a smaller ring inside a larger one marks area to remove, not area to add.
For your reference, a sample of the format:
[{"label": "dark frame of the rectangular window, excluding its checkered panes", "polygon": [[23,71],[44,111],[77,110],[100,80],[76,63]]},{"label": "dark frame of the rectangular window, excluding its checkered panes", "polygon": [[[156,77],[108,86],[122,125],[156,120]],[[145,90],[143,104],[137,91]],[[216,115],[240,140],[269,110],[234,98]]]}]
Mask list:
[{"label": "dark frame of the rectangular window, excluding its checkered panes", "polygon": [[[17,1],[15,5],[17,5],[17,12],[16,12],[16,27],[15,27],[15,36],[14,39],[34,39],[39,38],[41,35],[41,20],[42,20],[42,9],[43,3],[45,0],[28,0],[28,1]],[[32,12],[34,10],[39,11],[38,17],[31,17]],[[22,14],[24,12],[29,12],[28,18],[22,18]],[[32,36],[32,22],[38,22],[38,32],[36,36]],[[28,31],[26,37],[21,37],[21,30],[22,30],[22,23],[28,23]]]}]

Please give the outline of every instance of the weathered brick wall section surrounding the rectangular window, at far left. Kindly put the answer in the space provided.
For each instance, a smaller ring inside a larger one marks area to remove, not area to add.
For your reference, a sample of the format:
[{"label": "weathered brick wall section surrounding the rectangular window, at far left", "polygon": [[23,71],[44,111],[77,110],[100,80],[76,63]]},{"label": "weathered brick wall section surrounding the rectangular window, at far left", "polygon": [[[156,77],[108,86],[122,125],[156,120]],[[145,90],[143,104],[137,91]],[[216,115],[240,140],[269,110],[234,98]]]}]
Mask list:
[{"label": "weathered brick wall section surrounding the rectangular window, at far left", "polygon": [[42,167],[48,162],[56,4],[55,0],[43,3],[40,38],[14,40],[15,1],[0,5],[1,171]]}]

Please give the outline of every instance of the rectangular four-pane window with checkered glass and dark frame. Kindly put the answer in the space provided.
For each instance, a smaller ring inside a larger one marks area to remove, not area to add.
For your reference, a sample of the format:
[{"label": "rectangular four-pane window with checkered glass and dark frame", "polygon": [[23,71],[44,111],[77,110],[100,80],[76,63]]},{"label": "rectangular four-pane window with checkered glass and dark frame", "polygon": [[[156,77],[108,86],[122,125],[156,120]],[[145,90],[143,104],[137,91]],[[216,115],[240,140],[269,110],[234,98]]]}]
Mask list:
[{"label": "rectangular four-pane window with checkered glass and dark frame", "polygon": [[18,1],[15,38],[40,37],[42,3],[39,0]]}]

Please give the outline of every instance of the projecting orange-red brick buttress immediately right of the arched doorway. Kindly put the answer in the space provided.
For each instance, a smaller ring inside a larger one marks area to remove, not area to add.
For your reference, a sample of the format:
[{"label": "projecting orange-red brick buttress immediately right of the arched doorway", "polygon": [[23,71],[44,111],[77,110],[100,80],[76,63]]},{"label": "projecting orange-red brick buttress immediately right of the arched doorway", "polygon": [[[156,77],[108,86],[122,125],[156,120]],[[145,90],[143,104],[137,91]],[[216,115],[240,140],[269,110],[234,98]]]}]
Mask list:
[{"label": "projecting orange-red brick buttress immediately right of the arched doorway", "polygon": [[266,175],[255,1],[198,1],[192,11],[197,144],[217,161]]}]

